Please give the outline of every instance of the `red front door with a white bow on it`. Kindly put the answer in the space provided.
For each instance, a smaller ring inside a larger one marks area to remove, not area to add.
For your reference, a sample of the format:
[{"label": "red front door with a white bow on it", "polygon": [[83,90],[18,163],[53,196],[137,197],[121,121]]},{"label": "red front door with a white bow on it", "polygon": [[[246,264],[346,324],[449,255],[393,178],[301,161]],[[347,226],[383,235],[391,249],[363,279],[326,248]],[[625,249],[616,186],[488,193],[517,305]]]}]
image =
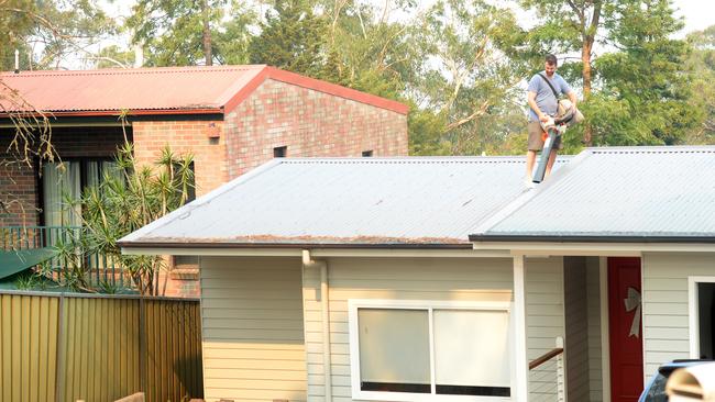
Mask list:
[{"label": "red front door with a white bow on it", "polygon": [[608,258],[610,401],[638,401],[644,389],[640,258]]}]

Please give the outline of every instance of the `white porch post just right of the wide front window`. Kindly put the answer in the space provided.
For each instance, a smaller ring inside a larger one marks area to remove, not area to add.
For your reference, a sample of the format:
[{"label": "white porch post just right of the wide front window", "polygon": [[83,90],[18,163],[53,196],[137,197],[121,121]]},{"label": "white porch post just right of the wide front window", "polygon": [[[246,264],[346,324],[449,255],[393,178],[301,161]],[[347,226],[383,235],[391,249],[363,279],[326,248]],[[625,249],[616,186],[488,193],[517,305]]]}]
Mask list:
[{"label": "white porch post just right of the wide front window", "polygon": [[526,357],[526,269],[524,256],[514,256],[514,357],[516,367],[515,401],[529,399],[529,365]]}]

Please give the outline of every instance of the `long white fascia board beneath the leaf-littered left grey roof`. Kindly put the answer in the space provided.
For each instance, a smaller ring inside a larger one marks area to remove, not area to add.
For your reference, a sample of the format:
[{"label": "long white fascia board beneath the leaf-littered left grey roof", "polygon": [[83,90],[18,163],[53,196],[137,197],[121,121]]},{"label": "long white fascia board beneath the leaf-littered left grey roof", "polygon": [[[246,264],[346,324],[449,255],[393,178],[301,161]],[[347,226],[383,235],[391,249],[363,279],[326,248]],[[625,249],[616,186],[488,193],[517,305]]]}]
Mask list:
[{"label": "long white fascia board beneath the leaf-littered left grey roof", "polygon": [[[233,257],[301,257],[300,248],[125,248],[125,255],[162,256],[233,256]],[[311,248],[310,255],[326,257],[385,257],[385,258],[512,258],[509,250],[482,249],[370,249],[370,248]]]}]

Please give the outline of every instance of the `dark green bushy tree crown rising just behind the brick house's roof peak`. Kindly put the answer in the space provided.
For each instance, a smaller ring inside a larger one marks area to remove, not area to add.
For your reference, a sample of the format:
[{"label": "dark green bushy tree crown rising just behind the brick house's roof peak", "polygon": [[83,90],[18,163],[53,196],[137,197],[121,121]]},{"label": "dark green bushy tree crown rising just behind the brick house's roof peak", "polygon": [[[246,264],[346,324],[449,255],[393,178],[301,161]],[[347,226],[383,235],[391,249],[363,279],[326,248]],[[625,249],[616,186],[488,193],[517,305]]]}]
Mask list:
[{"label": "dark green bushy tree crown rising just behind the brick house's roof peak", "polygon": [[249,45],[252,64],[315,76],[322,69],[326,21],[304,0],[276,0]]}]

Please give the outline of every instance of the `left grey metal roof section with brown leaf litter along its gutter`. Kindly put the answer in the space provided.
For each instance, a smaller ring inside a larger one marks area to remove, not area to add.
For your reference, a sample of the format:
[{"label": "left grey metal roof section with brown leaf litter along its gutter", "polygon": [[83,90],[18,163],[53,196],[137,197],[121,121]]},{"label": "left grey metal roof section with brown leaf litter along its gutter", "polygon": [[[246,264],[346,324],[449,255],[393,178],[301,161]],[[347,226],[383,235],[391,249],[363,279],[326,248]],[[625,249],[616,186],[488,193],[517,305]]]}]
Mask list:
[{"label": "left grey metal roof section with brown leaf litter along its gutter", "polygon": [[274,159],[120,244],[462,247],[524,191],[524,157]]}]

